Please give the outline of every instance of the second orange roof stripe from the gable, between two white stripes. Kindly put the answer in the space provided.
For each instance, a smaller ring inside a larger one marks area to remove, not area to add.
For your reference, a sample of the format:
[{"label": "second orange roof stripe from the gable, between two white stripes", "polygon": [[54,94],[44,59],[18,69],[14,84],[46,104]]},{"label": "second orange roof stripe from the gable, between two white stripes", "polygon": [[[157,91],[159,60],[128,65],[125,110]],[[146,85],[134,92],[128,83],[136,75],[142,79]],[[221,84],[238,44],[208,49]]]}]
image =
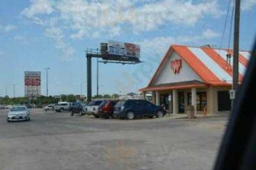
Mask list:
[{"label": "second orange roof stripe from the gable, between two white stripes", "polygon": [[[218,53],[212,48],[201,48],[209,57],[211,57],[221,68],[224,69],[231,77],[233,77],[233,68],[230,66],[227,68],[227,62],[225,59],[220,57]],[[239,74],[239,80],[241,81],[243,76]]]}]

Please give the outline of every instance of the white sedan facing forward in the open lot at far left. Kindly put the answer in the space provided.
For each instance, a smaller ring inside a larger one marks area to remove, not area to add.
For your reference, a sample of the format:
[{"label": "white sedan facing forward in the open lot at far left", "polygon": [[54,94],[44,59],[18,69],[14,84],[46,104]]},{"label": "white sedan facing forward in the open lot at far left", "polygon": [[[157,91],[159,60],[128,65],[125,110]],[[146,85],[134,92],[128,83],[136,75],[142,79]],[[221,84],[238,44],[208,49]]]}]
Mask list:
[{"label": "white sedan facing forward in the open lot at far left", "polygon": [[10,109],[7,116],[7,122],[12,121],[30,121],[30,111],[25,105],[14,106]]}]

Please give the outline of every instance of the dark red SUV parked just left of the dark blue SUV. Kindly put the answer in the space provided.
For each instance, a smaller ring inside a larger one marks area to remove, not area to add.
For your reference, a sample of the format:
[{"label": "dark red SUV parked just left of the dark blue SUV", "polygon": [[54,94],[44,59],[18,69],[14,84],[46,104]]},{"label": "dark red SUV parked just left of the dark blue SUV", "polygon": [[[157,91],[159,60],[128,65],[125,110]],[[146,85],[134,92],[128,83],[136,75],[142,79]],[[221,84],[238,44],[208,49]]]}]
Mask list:
[{"label": "dark red SUV parked just left of the dark blue SUV", "polygon": [[99,105],[99,111],[97,115],[105,119],[108,119],[109,117],[113,118],[114,105],[116,105],[118,102],[119,100],[107,100],[102,102],[102,104]]}]

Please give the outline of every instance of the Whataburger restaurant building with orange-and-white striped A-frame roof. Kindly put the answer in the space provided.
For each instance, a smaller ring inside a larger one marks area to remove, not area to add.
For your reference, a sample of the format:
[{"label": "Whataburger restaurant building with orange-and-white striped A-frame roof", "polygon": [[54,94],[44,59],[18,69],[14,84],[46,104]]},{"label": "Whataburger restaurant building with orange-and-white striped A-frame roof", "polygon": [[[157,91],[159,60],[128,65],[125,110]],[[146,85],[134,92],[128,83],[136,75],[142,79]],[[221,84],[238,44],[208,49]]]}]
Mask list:
[{"label": "Whataburger restaurant building with orange-and-white striped A-frame roof", "polygon": [[[230,89],[233,51],[209,47],[172,45],[160,62],[148,87],[140,89],[143,97],[152,93],[152,102],[165,105],[170,113],[185,113],[189,105],[195,114],[222,114],[231,108]],[[231,54],[228,58],[227,54]],[[239,52],[241,83],[250,52]]]}]

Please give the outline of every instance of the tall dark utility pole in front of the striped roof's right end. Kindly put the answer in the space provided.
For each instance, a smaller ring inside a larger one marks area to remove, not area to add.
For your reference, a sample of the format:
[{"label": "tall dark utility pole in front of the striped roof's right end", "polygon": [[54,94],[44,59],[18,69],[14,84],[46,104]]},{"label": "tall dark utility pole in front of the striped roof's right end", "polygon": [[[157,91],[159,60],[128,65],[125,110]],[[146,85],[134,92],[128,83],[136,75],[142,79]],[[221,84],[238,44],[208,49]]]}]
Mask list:
[{"label": "tall dark utility pole in front of the striped roof's right end", "polygon": [[[235,4],[235,27],[234,27],[234,59],[233,59],[233,92],[235,94],[235,99],[237,96],[239,88],[239,26],[240,26],[240,0],[236,0]],[[234,108],[234,101],[232,100],[232,108]]]}]

